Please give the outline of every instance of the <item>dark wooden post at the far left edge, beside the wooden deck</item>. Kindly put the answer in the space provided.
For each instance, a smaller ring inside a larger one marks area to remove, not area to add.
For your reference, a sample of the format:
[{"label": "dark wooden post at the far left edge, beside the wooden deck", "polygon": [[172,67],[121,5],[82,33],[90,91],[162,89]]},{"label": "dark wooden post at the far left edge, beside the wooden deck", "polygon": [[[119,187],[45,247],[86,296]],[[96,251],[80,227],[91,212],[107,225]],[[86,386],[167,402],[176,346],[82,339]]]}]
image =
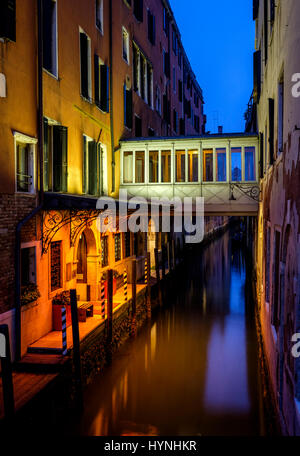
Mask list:
[{"label": "dark wooden post at the far left edge, beside the wooden deck", "polygon": [[15,401],[8,325],[0,325],[0,344],[4,414],[10,420],[15,413]]}]

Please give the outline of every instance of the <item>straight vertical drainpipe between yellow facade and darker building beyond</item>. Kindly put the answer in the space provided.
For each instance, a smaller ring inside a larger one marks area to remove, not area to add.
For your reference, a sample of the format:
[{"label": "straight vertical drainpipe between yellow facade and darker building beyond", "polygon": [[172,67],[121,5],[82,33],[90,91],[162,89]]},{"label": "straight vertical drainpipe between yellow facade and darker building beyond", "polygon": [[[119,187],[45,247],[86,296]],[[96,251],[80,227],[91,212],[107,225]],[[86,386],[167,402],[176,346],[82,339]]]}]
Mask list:
[{"label": "straight vertical drainpipe between yellow facade and darker building beyond", "polygon": [[115,161],[115,138],[114,138],[114,116],[113,116],[113,6],[109,0],[109,115],[110,115],[110,142],[111,142],[111,192],[116,191],[116,161]]}]

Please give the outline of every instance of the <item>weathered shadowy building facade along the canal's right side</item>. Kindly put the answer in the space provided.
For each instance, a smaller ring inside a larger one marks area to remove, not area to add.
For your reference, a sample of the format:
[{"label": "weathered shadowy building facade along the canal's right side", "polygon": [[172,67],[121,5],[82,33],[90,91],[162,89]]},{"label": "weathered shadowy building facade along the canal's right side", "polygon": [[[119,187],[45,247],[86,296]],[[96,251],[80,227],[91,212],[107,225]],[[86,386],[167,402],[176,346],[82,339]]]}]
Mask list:
[{"label": "weathered shadowy building facade along the canal's right side", "polygon": [[[254,1],[254,108],[260,135],[257,294],[265,351],[284,432],[300,433],[300,4]],[[297,84],[298,83],[298,84]]]}]

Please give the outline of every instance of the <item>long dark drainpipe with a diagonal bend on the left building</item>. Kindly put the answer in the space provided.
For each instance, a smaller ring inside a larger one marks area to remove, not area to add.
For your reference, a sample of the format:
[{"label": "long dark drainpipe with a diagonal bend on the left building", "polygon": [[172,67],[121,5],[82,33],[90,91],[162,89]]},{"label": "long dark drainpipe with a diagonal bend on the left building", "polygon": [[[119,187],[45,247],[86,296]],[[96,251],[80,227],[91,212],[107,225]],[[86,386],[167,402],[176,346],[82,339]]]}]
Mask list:
[{"label": "long dark drainpipe with a diagonal bend on the left building", "polygon": [[21,358],[21,231],[22,227],[28,223],[43,208],[44,202],[44,182],[43,182],[43,22],[42,22],[42,0],[37,0],[38,15],[38,169],[39,169],[39,205],[21,220],[16,228],[16,247],[15,247],[15,360]]}]

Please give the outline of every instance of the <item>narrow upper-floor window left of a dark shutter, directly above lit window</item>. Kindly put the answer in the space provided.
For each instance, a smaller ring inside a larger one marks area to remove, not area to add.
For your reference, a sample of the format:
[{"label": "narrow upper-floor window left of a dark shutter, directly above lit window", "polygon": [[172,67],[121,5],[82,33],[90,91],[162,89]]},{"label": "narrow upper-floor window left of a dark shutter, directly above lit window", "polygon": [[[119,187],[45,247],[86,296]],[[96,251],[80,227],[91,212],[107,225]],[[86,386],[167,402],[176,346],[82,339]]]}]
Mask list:
[{"label": "narrow upper-floor window left of a dark shutter, directly above lit window", "polygon": [[80,32],[80,76],[81,95],[88,101],[92,99],[91,79],[91,40],[84,33]]}]

